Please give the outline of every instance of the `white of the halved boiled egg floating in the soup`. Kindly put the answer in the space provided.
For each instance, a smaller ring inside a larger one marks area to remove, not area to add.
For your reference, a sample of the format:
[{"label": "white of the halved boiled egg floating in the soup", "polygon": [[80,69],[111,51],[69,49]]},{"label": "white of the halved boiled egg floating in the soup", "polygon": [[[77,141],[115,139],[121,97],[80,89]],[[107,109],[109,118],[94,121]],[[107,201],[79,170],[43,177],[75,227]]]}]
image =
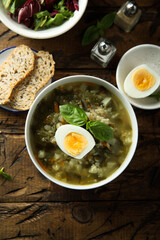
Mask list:
[{"label": "white of the halved boiled egg floating in the soup", "polygon": [[[73,156],[73,155],[69,154],[64,148],[64,139],[65,139],[66,135],[68,135],[71,132],[79,133],[79,134],[83,135],[84,137],[86,137],[86,139],[88,140],[87,147],[77,156]],[[75,125],[71,125],[71,124],[65,124],[65,125],[62,125],[61,127],[59,127],[55,133],[55,139],[56,139],[57,145],[64,153],[66,153],[67,155],[69,155],[73,158],[76,158],[76,159],[83,158],[95,146],[94,138],[86,129],[75,126]]]}]

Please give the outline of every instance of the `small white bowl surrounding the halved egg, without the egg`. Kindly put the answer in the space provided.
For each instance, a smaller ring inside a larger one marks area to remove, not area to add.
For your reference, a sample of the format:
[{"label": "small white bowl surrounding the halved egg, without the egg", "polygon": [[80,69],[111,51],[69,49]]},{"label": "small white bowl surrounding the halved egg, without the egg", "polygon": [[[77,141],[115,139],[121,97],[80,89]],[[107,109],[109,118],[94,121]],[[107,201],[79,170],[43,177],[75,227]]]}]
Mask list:
[{"label": "small white bowl surrounding the halved egg, without the egg", "polygon": [[160,108],[160,101],[152,97],[131,98],[124,92],[124,80],[128,73],[141,64],[148,65],[160,76],[160,47],[153,44],[142,44],[129,49],[120,59],[116,70],[116,83],[119,90],[129,102],[138,108],[152,110]]}]

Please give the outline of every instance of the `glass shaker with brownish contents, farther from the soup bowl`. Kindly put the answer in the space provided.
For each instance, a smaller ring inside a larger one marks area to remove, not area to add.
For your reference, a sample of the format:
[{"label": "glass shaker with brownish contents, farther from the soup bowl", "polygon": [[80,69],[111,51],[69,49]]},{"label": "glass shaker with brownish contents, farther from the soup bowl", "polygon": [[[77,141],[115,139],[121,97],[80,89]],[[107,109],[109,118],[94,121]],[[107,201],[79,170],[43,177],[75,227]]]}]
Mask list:
[{"label": "glass shaker with brownish contents, farther from the soup bowl", "polygon": [[130,32],[139,21],[141,14],[142,11],[135,1],[127,1],[118,10],[114,23],[125,32]]}]

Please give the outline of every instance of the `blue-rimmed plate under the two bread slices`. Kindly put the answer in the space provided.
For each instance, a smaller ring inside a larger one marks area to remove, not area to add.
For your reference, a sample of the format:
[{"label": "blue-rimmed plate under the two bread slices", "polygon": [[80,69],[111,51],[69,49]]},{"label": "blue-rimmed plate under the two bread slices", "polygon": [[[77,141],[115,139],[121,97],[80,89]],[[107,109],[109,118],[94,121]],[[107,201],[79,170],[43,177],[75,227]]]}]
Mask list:
[{"label": "blue-rimmed plate under the two bread slices", "polygon": [[[0,51],[0,65],[7,59],[7,57],[10,55],[10,53],[13,51],[13,49],[16,48],[16,46],[12,46],[12,47],[8,47],[8,48],[5,48],[3,50]],[[38,51],[32,49],[33,52],[37,53]],[[52,78],[53,79],[53,78]],[[52,79],[45,85],[45,87],[47,85],[49,85],[51,82],[52,82]],[[44,88],[45,88],[44,87]],[[42,90],[42,89],[41,89]],[[41,92],[41,90],[39,92]],[[38,92],[38,93],[39,93]],[[37,93],[37,94],[38,94]],[[6,110],[6,111],[9,111],[9,112],[13,112],[13,113],[21,113],[21,112],[27,112],[27,111],[20,111],[20,110],[17,110],[17,109],[14,109],[14,108],[11,108],[11,107],[8,107],[6,105],[0,105],[0,108]]]}]

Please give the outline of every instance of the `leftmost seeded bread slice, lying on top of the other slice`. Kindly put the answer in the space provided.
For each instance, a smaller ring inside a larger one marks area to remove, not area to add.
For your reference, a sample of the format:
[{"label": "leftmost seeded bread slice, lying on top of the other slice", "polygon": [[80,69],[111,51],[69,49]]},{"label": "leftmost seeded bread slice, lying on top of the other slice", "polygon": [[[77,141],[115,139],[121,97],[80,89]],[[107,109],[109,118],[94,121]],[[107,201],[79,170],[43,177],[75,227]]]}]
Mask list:
[{"label": "leftmost seeded bread slice, lying on top of the other slice", "polygon": [[34,53],[25,45],[16,47],[0,66],[0,104],[9,101],[13,88],[34,68]]}]

